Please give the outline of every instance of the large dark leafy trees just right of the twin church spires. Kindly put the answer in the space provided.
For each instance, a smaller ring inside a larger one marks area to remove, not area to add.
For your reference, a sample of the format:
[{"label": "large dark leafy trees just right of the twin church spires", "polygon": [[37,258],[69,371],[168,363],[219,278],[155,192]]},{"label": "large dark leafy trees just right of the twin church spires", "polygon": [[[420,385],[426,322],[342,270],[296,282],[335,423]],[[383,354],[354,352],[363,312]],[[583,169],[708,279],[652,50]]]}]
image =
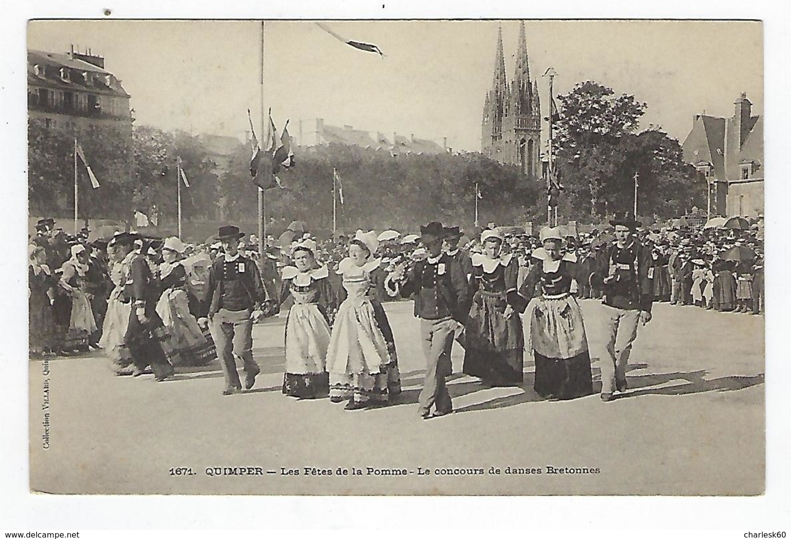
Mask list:
[{"label": "large dark leafy trees just right of the twin church spires", "polygon": [[679,142],[653,126],[636,133],[644,103],[627,94],[616,97],[592,81],[575,85],[558,101],[553,145],[574,209],[570,217],[597,221],[605,213],[631,209],[635,173],[641,213],[673,217],[691,202],[700,203],[694,170],[683,163]]}]

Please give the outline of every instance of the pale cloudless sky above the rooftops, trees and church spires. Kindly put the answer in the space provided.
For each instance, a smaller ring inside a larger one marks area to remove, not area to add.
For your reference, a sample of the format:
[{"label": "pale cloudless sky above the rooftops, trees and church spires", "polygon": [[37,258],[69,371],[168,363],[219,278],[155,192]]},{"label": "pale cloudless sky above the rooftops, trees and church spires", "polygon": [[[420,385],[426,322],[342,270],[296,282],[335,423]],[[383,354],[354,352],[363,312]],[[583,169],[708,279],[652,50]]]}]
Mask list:
[{"label": "pale cloudless sky above the rooftops, trees and church spires", "polygon": [[[693,115],[730,116],[746,92],[763,114],[763,28],[756,22],[524,21],[531,75],[547,115],[554,93],[596,81],[648,107],[642,127],[683,141]],[[281,127],[323,118],[335,126],[427,138],[480,149],[498,25],[513,78],[519,21],[327,21],[341,43],[310,21],[264,24],[263,104]],[[32,21],[28,47],[90,47],[131,94],[137,125],[245,138],[247,109],[261,110],[259,21]],[[305,125],[305,124],[304,124]]]}]

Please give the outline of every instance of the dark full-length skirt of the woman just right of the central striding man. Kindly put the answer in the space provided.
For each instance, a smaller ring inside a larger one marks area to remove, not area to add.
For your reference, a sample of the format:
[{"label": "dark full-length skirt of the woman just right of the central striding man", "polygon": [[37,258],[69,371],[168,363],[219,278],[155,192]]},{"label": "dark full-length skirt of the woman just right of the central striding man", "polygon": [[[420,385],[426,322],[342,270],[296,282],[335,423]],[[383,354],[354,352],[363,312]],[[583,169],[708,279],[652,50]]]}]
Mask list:
[{"label": "dark full-length skirt of the woman just right of the central striding man", "polygon": [[524,375],[524,333],[514,312],[505,319],[505,294],[476,292],[464,326],[464,374],[491,386],[514,386]]}]

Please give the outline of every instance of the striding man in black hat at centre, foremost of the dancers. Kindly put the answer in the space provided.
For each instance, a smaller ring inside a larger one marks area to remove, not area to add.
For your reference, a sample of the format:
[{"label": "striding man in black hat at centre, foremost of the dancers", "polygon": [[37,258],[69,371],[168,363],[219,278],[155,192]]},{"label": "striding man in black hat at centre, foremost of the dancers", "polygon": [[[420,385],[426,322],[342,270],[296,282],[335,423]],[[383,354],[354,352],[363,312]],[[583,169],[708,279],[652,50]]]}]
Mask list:
[{"label": "striding man in black hat at centre, foremost of the dancers", "polygon": [[[423,419],[452,413],[453,405],[445,386],[452,374],[450,352],[453,337],[470,311],[467,275],[460,264],[442,252],[445,228],[434,221],[420,227],[421,242],[428,257],[406,272],[398,266],[391,274],[391,285],[401,296],[414,298],[414,315],[420,319],[426,377],[418,397],[418,412]],[[391,288],[393,290],[393,288]],[[432,414],[432,406],[436,411]]]}]

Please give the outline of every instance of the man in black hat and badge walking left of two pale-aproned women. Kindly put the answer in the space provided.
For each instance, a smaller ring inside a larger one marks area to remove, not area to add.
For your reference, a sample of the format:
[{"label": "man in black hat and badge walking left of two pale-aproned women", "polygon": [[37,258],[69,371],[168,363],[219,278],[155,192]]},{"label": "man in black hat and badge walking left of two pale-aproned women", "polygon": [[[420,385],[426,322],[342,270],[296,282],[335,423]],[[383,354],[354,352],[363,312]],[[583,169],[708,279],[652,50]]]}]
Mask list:
[{"label": "man in black hat and badge walking left of two pale-aproned women", "polygon": [[209,326],[211,337],[225,375],[225,390],[232,395],[241,391],[234,356],[244,361],[244,388],[251,389],[261,369],[252,357],[252,325],[263,316],[267,292],[258,266],[239,252],[244,232],[233,225],[222,226],[216,239],[225,254],[214,259],[203,289],[202,327]]}]

